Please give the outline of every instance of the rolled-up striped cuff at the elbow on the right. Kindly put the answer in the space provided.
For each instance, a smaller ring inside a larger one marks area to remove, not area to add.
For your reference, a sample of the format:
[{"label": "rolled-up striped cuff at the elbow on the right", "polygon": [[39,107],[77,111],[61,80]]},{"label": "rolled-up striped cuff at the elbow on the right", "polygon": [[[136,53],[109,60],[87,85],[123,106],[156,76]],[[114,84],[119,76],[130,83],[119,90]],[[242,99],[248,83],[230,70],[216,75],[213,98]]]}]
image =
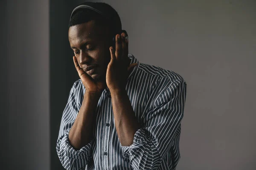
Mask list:
[{"label": "rolled-up striped cuff at the elbow on the right", "polygon": [[120,143],[120,147],[122,148],[123,158],[125,161],[131,164],[131,161],[136,157],[137,152],[141,149],[145,150],[145,146],[151,142],[151,138],[146,134],[146,130],[140,128],[134,134],[134,140],[131,146],[122,146]]}]

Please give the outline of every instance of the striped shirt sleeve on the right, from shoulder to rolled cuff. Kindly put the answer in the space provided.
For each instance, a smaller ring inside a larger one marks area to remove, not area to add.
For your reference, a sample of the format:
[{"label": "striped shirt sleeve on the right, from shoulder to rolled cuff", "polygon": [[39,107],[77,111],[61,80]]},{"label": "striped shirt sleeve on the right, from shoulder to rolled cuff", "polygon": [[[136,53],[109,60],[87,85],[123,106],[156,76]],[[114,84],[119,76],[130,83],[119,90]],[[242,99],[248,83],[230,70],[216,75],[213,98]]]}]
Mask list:
[{"label": "striped shirt sleeve on the right, from shoulder to rolled cuff", "polygon": [[[146,122],[134,134],[131,146],[122,146],[123,158],[134,170],[158,169],[172,144],[183,118],[186,82],[177,80],[161,90],[153,107],[145,115]],[[178,138],[179,139],[179,138]],[[178,160],[177,160],[178,161]],[[173,163],[172,163],[173,164]],[[174,170],[176,168],[172,166]]]}]

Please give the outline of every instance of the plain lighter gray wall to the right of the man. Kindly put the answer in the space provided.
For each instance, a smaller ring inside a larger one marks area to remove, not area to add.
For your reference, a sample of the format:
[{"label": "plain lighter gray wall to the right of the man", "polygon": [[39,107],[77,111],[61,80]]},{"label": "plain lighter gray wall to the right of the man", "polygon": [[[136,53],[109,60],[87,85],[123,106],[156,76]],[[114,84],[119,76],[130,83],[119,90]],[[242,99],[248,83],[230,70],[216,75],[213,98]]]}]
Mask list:
[{"label": "plain lighter gray wall to the right of the man", "polygon": [[177,170],[255,170],[256,1],[101,2],[119,12],[130,53],[188,84]]}]

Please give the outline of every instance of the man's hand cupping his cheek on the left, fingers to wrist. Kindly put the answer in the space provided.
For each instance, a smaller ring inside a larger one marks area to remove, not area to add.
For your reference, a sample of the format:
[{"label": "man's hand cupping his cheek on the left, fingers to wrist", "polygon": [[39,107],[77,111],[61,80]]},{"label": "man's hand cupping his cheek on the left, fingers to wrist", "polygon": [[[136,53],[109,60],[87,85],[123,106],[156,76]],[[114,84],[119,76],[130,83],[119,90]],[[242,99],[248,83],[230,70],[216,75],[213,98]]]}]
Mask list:
[{"label": "man's hand cupping his cheek on the left, fingers to wrist", "polygon": [[76,59],[76,56],[73,56],[73,61],[78,72],[79,77],[81,78],[82,83],[85,87],[85,92],[95,95],[101,95],[102,91],[106,88],[106,83],[102,81],[94,81],[84,70],[79,66],[79,63]]}]

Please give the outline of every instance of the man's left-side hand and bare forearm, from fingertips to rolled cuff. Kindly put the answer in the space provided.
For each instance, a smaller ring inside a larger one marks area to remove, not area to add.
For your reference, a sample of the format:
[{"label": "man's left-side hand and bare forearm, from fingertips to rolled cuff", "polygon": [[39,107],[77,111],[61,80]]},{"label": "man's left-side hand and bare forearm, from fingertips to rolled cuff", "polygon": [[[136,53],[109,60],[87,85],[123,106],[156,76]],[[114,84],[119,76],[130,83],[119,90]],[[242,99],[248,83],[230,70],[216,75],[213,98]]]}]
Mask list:
[{"label": "man's left-side hand and bare forearm, from fingertips to rolled cuff", "polygon": [[96,122],[95,112],[102,91],[106,87],[106,83],[94,81],[90,75],[81,69],[75,56],[73,56],[73,61],[76,66],[76,71],[84,84],[85,94],[76,120],[70,129],[68,138],[70,145],[74,149],[80,150],[81,147],[84,147],[93,139],[93,126]]}]

